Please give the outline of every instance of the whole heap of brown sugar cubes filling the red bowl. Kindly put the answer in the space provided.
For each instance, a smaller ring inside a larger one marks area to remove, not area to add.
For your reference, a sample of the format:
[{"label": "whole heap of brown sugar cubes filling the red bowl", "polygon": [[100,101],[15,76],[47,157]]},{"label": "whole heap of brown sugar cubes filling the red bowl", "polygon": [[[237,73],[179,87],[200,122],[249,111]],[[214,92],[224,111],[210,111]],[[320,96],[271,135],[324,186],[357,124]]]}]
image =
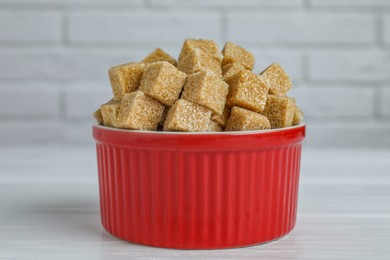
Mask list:
[{"label": "whole heap of brown sugar cubes filling the red bowl", "polygon": [[156,49],[141,62],[109,69],[114,97],[94,113],[105,126],[220,132],[297,125],[303,113],[287,97],[291,80],[273,63],[260,74],[246,49],[187,39],[178,61]]}]

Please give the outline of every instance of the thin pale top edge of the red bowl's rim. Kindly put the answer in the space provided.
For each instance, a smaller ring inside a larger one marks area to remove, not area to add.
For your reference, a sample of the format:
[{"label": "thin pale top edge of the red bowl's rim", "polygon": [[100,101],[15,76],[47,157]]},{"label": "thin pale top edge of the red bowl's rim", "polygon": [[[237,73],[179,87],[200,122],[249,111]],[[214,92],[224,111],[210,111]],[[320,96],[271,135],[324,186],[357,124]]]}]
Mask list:
[{"label": "thin pale top edge of the red bowl's rim", "polygon": [[137,134],[149,134],[149,135],[250,135],[250,134],[266,134],[266,133],[277,133],[283,131],[289,131],[306,127],[305,122],[301,122],[295,126],[288,126],[283,128],[266,129],[266,130],[245,130],[245,131],[227,131],[227,132],[173,132],[173,131],[152,131],[152,130],[132,130],[104,126],[100,124],[93,124],[93,127],[100,128],[108,131],[117,131],[122,133],[137,133]]}]

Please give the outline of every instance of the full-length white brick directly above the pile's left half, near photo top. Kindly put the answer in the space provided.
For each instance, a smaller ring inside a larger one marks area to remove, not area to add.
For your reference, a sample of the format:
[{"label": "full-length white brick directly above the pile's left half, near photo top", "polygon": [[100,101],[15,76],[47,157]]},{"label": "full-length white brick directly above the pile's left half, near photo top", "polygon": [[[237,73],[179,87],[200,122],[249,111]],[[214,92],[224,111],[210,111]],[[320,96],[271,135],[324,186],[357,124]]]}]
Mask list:
[{"label": "full-length white brick directly above the pile's left half, near photo top", "polygon": [[69,15],[71,43],[177,43],[188,37],[215,38],[220,18],[192,13],[75,13]]}]

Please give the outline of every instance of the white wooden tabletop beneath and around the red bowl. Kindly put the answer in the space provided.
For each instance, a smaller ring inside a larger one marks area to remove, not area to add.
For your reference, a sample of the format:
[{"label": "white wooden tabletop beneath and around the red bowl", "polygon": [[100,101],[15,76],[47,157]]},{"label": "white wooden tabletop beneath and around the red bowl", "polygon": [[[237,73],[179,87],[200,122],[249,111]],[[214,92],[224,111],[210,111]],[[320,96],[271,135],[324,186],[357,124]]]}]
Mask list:
[{"label": "white wooden tabletop beneath and around the red bowl", "polygon": [[0,148],[0,259],[390,259],[390,150],[304,149],[295,229],[239,249],[116,239],[97,187],[92,146]]}]

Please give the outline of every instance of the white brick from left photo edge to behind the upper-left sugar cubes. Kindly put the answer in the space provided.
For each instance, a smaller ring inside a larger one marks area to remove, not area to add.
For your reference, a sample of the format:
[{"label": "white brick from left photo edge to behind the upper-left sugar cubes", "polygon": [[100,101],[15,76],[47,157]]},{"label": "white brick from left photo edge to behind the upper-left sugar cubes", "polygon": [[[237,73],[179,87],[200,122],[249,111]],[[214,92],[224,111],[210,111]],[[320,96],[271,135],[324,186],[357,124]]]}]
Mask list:
[{"label": "white brick from left photo edge to behind the upper-left sugar cubes", "polygon": [[145,51],[91,49],[0,50],[0,79],[104,80],[107,69],[140,60]]}]

